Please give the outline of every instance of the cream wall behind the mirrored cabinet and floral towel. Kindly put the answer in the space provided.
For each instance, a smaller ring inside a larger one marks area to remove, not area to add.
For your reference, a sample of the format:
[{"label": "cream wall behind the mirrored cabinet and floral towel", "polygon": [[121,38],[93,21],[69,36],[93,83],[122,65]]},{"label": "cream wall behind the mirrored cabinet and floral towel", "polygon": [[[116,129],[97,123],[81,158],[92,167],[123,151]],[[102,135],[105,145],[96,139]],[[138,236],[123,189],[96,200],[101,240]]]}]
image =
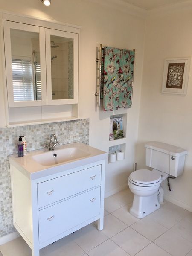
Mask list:
[{"label": "cream wall behind the mirrored cabinet and floral towel", "polygon": [[[89,0],[57,0],[51,6],[44,6],[40,0],[1,1],[0,9],[32,15],[82,26],[80,37],[80,116],[90,118],[90,145],[108,151],[109,117],[114,113],[128,113],[126,159],[106,167],[106,188],[108,195],[127,184],[128,172],[133,169],[135,145],[137,143],[138,117],[140,107],[141,77],[143,67],[143,42],[145,20],[131,16],[109,6],[101,6]],[[98,110],[95,106],[96,47],[106,46],[136,49],[133,105],[129,110],[113,113]],[[2,47],[2,46],[1,46]],[[0,90],[2,82],[0,81]],[[3,102],[0,101],[0,108]],[[5,126],[2,116],[0,126]]]}]

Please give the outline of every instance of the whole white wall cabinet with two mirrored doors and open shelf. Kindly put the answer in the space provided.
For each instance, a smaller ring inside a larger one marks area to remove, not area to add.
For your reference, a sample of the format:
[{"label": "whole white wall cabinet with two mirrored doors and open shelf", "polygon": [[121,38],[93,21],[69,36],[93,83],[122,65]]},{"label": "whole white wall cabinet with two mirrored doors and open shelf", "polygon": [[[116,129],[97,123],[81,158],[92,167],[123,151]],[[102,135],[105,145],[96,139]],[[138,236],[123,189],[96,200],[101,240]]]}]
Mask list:
[{"label": "whole white wall cabinet with two mirrored doors and open shelf", "polygon": [[78,119],[80,27],[1,17],[8,126]]}]

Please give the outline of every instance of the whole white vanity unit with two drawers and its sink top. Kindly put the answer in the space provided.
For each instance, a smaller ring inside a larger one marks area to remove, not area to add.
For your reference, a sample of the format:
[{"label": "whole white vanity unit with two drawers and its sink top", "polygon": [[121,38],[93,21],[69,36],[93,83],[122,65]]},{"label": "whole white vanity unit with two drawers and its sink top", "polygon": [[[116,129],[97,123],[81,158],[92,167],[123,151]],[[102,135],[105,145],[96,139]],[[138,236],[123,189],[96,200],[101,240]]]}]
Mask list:
[{"label": "whole white vanity unit with two drawers and its sink top", "polygon": [[[84,157],[46,162],[46,157],[54,160],[54,153],[61,156],[70,148],[83,151]],[[39,157],[45,160],[38,163]],[[106,158],[107,153],[81,143],[9,156],[14,226],[32,256],[93,221],[103,229]]]}]

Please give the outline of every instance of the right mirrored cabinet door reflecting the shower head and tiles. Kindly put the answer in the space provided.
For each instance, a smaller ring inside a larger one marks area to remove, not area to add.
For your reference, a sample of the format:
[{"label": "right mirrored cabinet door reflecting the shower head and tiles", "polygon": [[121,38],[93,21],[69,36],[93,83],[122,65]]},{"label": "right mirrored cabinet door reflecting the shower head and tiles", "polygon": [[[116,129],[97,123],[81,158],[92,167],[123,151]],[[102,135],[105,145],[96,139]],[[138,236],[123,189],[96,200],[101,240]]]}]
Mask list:
[{"label": "right mirrored cabinet door reflecting the shower head and tiles", "polygon": [[78,101],[78,34],[46,29],[47,104]]}]

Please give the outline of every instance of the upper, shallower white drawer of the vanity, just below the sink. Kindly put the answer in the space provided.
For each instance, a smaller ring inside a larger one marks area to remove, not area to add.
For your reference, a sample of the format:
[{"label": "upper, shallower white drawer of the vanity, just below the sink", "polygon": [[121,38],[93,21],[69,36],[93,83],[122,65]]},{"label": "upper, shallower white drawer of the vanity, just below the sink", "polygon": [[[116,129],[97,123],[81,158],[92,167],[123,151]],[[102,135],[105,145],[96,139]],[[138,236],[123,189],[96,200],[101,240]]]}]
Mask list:
[{"label": "upper, shallower white drawer of the vanity, just below the sink", "polygon": [[38,208],[101,184],[101,165],[38,183]]}]

